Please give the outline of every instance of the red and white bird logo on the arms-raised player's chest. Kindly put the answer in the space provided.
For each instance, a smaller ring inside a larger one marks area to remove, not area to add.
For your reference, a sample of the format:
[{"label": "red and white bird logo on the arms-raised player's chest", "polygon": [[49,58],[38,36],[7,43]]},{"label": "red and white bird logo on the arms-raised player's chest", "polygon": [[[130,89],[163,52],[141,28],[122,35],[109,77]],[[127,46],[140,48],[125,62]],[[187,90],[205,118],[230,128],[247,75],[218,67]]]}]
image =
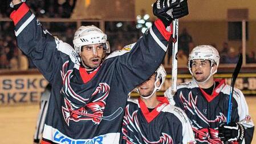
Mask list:
[{"label": "red and white bird logo on the arms-raised player's chest", "polygon": [[[65,96],[65,106],[62,106],[62,114],[68,126],[70,121],[92,121],[95,125],[98,125],[100,124],[101,120],[112,121],[123,112],[123,109],[119,107],[111,115],[103,116],[105,101],[110,90],[107,83],[99,83],[98,87],[95,89],[94,93],[92,93],[90,98],[83,98],[82,96],[79,96],[79,94],[75,93],[69,83],[72,77],[72,70],[68,70],[66,73],[64,73],[64,71],[66,71],[67,64],[68,62],[64,63],[62,69],[62,79],[64,84],[62,93]],[[82,102],[84,106],[78,107],[72,104],[70,98]]]}]

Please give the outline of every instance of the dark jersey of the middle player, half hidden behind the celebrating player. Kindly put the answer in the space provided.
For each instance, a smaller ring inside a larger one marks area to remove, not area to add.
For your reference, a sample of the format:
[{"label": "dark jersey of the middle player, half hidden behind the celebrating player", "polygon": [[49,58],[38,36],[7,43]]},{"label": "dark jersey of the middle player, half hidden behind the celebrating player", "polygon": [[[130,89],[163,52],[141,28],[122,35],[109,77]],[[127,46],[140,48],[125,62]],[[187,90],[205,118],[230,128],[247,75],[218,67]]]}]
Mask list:
[{"label": "dark jersey of the middle player, half hidden behind the celebrating player", "polygon": [[166,97],[151,112],[139,99],[128,98],[120,143],[196,143],[186,114]]}]

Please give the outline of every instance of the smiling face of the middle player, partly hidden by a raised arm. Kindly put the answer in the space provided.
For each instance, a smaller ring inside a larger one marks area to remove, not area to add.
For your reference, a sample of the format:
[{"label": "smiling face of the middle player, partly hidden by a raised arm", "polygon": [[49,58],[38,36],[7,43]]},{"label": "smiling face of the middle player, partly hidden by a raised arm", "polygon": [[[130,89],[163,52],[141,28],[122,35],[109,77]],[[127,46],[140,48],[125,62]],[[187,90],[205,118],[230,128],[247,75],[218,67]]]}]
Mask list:
[{"label": "smiling face of the middle player, partly hidden by a raised arm", "polygon": [[[155,89],[156,74],[153,74],[147,81],[138,87],[141,96],[149,96]],[[160,83],[159,81],[157,83]]]}]

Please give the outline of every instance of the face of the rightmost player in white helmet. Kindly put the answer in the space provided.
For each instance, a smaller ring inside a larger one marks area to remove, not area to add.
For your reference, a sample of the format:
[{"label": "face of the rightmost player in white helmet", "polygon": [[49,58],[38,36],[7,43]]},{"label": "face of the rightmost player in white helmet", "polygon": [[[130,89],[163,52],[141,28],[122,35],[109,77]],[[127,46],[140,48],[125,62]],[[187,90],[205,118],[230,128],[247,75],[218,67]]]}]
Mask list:
[{"label": "face of the rightmost player in white helmet", "polygon": [[199,82],[205,81],[210,75],[211,65],[209,60],[197,59],[191,64],[192,75]]}]

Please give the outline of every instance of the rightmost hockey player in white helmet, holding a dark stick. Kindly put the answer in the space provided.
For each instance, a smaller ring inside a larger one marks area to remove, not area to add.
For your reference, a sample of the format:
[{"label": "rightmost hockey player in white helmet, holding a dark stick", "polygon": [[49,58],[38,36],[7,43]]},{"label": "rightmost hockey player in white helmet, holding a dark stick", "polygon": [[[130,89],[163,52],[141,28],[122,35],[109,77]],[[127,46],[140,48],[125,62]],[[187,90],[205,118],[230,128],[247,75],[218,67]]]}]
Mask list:
[{"label": "rightmost hockey player in white helmet, holding a dark stick", "polygon": [[189,55],[192,81],[180,84],[176,94],[165,96],[188,116],[197,143],[250,143],[254,124],[243,93],[234,89],[231,122],[226,124],[230,85],[214,79],[220,56],[212,46],[197,46]]}]

